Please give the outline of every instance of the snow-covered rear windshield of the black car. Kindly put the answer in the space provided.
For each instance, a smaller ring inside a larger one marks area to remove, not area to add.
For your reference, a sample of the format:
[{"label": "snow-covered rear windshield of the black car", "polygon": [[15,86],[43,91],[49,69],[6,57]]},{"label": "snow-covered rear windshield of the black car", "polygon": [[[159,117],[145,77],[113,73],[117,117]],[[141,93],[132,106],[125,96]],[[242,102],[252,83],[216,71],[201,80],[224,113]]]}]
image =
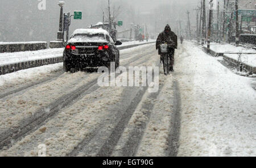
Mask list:
[{"label": "snow-covered rear windshield of the black car", "polygon": [[75,34],[71,37],[72,42],[84,42],[84,41],[106,41],[104,34]]}]

